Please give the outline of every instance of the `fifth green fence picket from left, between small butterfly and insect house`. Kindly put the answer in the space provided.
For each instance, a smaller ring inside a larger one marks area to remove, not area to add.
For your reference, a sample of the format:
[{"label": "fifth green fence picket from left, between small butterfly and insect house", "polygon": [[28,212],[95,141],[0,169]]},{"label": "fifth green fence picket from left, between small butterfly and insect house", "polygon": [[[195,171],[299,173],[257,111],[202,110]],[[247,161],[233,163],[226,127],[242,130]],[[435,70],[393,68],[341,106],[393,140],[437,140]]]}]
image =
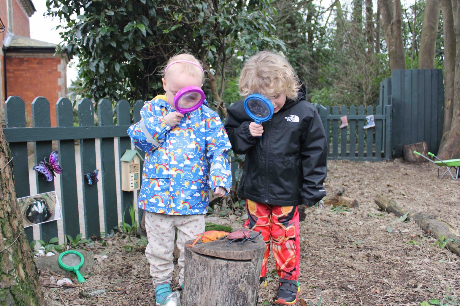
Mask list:
[{"label": "fifth green fence picket from left, between small butterfly and insect house", "polygon": [[[99,126],[111,126],[114,124],[112,102],[101,99],[98,102]],[[102,186],[102,200],[104,207],[104,230],[109,233],[118,226],[116,180],[115,180],[115,145],[113,138],[100,139],[101,169],[99,178]]]}]

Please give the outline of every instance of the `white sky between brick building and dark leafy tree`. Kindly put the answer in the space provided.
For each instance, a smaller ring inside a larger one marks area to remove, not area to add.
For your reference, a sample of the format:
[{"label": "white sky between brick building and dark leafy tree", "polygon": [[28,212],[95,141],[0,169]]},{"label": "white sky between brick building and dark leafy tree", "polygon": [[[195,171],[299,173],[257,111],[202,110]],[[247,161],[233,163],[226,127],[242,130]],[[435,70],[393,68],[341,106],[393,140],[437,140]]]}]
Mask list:
[{"label": "white sky between brick building and dark leafy tree", "polygon": [[[51,17],[44,17],[43,13],[46,11],[46,0],[32,0],[35,9],[37,10],[34,15],[29,19],[30,22],[30,38],[35,40],[42,40],[53,44],[58,44],[62,41],[59,31],[54,29],[59,24],[59,19]],[[69,64],[75,64],[74,58]],[[74,67],[67,68],[67,86],[70,85],[72,79],[76,79],[77,71]]]}]

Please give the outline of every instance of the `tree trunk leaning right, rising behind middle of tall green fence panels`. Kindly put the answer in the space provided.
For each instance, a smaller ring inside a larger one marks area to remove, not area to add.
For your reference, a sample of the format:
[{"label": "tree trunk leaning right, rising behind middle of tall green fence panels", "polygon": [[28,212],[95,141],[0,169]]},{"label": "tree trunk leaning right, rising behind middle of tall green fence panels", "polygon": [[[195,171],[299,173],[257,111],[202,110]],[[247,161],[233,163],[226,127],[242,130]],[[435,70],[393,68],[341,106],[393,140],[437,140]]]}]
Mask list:
[{"label": "tree trunk leaning right, rising behind middle of tall green fence panels", "polygon": [[439,12],[439,0],[426,0],[420,39],[419,69],[434,68]]}]

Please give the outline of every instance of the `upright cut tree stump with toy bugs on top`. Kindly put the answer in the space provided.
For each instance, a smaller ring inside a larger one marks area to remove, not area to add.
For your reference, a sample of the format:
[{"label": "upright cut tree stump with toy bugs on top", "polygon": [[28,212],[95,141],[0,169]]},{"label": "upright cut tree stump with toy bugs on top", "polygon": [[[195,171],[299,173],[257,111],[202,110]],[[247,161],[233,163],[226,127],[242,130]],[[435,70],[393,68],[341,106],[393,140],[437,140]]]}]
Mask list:
[{"label": "upright cut tree stump with toy bugs on top", "polygon": [[256,306],[265,242],[262,235],[254,240],[229,247],[227,238],[186,246],[184,306]]}]

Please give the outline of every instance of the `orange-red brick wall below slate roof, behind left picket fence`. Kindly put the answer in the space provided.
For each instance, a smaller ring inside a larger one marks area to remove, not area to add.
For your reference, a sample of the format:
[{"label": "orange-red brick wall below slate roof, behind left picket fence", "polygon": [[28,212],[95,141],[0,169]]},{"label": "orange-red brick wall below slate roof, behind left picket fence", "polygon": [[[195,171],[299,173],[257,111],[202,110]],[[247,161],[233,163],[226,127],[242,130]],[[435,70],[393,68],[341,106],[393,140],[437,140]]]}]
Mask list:
[{"label": "orange-red brick wall below slate roof, behind left picket fence", "polygon": [[32,126],[32,101],[44,96],[50,102],[51,125],[56,126],[56,102],[63,97],[61,57],[6,57],[6,93],[20,96],[26,108],[26,121]]}]

